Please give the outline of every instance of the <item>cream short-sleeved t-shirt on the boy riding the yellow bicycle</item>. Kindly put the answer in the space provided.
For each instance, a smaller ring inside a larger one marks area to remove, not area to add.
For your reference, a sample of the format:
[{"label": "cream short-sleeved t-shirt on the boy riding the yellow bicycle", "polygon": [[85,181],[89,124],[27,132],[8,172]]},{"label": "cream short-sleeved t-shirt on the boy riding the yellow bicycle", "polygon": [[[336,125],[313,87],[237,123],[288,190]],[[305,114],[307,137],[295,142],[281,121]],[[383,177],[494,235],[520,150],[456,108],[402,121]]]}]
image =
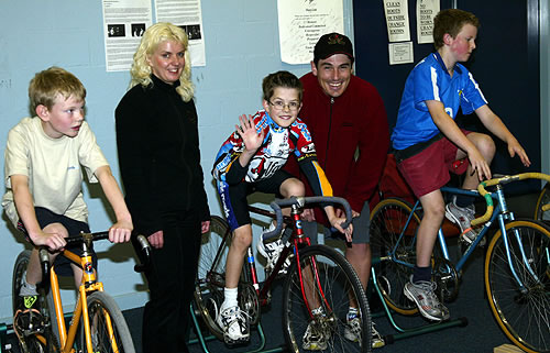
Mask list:
[{"label": "cream short-sleeved t-shirt on the boy riding the yellow bicycle", "polygon": [[52,139],[44,133],[40,118],[24,118],[8,134],[4,152],[7,192],[2,207],[16,225],[19,216],[13,202],[10,176],[25,175],[35,207],[87,222],[88,209],[82,196],[85,167],[90,183],[98,183],[94,173],[109,165],[85,121],[75,137]]}]

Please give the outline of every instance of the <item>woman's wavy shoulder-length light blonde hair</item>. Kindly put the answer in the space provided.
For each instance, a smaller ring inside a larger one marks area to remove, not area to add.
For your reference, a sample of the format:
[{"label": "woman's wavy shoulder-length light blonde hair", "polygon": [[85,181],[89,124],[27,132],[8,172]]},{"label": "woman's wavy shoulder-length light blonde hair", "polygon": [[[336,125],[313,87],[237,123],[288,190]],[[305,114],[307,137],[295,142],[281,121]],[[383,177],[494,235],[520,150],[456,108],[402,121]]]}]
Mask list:
[{"label": "woman's wavy shoulder-length light blonde hair", "polygon": [[156,23],[150,26],[143,34],[140,46],[134,54],[132,68],[130,69],[130,75],[132,76],[130,88],[136,85],[142,85],[144,87],[151,85],[152,70],[147,63],[147,56],[152,55],[156,51],[158,44],[165,41],[178,42],[184,47],[185,66],[182,70],[179,86],[176,88],[176,91],[182,96],[184,101],[188,102],[195,93],[195,87],[191,81],[191,58],[188,51],[189,42],[184,30],[168,22]]}]

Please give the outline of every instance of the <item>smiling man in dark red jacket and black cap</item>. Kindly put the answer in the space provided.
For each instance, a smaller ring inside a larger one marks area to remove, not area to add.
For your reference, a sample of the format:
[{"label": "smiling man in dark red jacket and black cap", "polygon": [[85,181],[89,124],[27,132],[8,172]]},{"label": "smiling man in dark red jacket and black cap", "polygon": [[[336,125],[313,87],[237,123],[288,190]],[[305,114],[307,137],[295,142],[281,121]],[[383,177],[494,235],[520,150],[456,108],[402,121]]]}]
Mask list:
[{"label": "smiling man in dark red jacket and black cap", "polygon": [[[320,37],[314,49],[311,73],[300,78],[300,118],[309,128],[334,196],[345,198],[353,210],[353,243],[346,247],[345,257],[366,288],[371,272],[369,200],[384,168],[389,129],[378,91],[352,74],[353,60],[353,46],[345,35],[329,33]],[[298,175],[295,164],[287,170]],[[315,213],[305,212],[305,219],[310,221],[304,222],[305,232],[315,243],[315,221],[328,224],[324,214],[316,209]],[[373,346],[384,345],[374,339]]]}]

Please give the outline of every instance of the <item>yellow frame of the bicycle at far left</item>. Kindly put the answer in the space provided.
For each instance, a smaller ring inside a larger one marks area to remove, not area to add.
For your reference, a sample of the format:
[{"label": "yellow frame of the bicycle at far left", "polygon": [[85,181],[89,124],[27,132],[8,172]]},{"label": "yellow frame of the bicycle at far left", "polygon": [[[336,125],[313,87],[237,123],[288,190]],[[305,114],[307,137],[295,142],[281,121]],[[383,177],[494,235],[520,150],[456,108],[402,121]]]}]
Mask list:
[{"label": "yellow frame of the bicycle at far left", "polygon": [[[59,293],[59,283],[57,279],[57,274],[55,273],[55,267],[52,265],[50,269],[50,283],[52,296],[54,299],[54,309],[55,317],[57,321],[57,328],[59,332],[59,346],[62,353],[72,353],[75,352],[74,343],[78,330],[78,323],[80,322],[80,318],[84,318],[84,331],[86,338],[86,348],[88,352],[94,352],[92,343],[91,343],[91,331],[90,331],[90,321],[88,317],[88,305],[87,298],[88,294],[94,293],[96,290],[103,291],[103,284],[101,282],[97,282],[96,272],[94,271],[91,254],[88,252],[89,244],[92,240],[92,234],[82,234],[84,236],[84,253],[82,256],[76,255],[75,253],[65,250],[62,255],[70,260],[72,263],[77,264],[82,269],[82,280],[78,288],[78,297],[75,304],[75,309],[73,311],[73,318],[70,320],[70,324],[67,328],[65,324],[65,315],[63,312],[63,304]],[[111,318],[106,312],[106,322],[107,330],[110,337],[113,337],[113,328],[111,323]],[[111,340],[112,349],[114,352],[118,351],[116,340]]]}]

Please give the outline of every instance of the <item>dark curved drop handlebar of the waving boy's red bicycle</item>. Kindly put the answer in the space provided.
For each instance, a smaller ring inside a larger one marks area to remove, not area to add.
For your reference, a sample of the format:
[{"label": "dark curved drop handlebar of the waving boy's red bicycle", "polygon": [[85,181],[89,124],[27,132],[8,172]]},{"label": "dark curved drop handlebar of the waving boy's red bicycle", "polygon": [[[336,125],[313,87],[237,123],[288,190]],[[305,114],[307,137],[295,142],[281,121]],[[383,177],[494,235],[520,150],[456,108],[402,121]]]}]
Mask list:
[{"label": "dark curved drop handlebar of the waving boy's red bicycle", "polygon": [[280,208],[285,207],[292,207],[294,205],[297,205],[298,208],[302,209],[306,205],[310,203],[339,203],[344,208],[345,211],[345,222],[343,222],[341,225],[343,229],[348,228],[352,221],[352,213],[351,213],[351,207],[348,201],[341,197],[328,197],[328,196],[312,196],[312,197],[292,197],[288,199],[276,199],[275,201],[271,202],[270,206],[271,208],[275,211],[275,219],[277,221],[277,227],[275,230],[271,232],[266,232],[263,234],[264,241],[268,241],[272,238],[276,238],[280,234],[280,231],[283,230],[283,211]]}]

